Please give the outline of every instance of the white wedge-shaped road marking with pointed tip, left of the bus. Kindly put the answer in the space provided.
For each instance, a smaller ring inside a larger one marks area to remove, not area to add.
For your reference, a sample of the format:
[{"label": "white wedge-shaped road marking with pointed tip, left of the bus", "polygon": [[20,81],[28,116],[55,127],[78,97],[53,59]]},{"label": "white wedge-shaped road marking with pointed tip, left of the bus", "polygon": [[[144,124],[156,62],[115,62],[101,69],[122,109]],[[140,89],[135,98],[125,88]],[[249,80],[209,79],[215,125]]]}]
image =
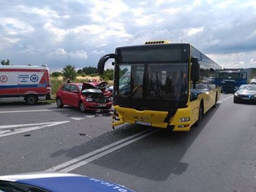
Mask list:
[{"label": "white wedge-shaped road marking with pointed tip, left of the bus", "polygon": [[[37,129],[52,127],[52,126],[55,126],[55,125],[61,125],[63,123],[67,123],[67,122],[70,122],[70,121],[48,122],[47,124],[45,124],[45,123],[30,124],[30,125],[42,125],[42,124],[43,125],[42,126],[29,127],[29,128],[17,128],[17,129],[14,129],[13,131],[11,131],[11,130],[1,131],[0,132],[0,137],[5,137],[5,136],[13,135],[13,134],[27,132],[27,131],[34,131],[34,130],[37,130]],[[29,124],[24,124],[23,127],[25,127],[27,125],[29,125]],[[4,126],[5,126],[5,128],[6,127],[10,128],[8,126],[11,126],[11,125],[3,125],[3,127]],[[12,127],[15,127],[15,126],[12,125]],[[19,126],[19,127],[22,127],[22,126]]]}]

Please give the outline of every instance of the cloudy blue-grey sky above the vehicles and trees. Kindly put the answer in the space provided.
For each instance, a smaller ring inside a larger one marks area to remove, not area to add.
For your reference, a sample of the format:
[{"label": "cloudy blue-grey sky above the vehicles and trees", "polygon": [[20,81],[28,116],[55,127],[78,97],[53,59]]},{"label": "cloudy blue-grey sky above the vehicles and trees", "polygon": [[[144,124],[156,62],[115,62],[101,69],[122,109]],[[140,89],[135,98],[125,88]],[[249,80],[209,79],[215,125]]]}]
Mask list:
[{"label": "cloudy blue-grey sky above the vehicles and trees", "polygon": [[[221,67],[256,67],[256,0],[0,0],[0,60],[61,71],[166,39]],[[111,64],[108,63],[107,67]]]}]

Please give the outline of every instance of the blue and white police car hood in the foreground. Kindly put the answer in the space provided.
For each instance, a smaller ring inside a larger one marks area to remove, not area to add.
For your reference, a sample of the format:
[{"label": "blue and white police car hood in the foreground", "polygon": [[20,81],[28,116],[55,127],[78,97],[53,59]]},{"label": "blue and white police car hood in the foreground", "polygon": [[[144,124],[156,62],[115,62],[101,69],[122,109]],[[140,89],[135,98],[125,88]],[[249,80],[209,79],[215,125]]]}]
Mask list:
[{"label": "blue and white police car hood in the foreground", "polygon": [[116,183],[70,173],[24,173],[0,176],[0,181],[37,186],[50,192],[131,192],[130,189]]}]

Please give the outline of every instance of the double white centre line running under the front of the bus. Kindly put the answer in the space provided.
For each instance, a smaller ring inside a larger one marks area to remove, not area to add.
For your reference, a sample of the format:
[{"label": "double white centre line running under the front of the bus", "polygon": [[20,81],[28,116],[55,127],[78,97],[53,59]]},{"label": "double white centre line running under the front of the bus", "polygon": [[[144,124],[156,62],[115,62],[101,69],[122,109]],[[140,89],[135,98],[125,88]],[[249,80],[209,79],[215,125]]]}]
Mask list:
[{"label": "double white centre line running under the front of the bus", "polygon": [[[116,141],[116,142],[114,142],[114,143],[111,143],[110,145],[106,145],[106,146],[104,146],[104,147],[102,147],[102,148],[98,148],[98,149],[96,149],[95,151],[91,151],[91,152],[89,152],[89,153],[87,153],[87,154],[84,154],[84,155],[82,155],[82,156],[80,156],[80,157],[76,157],[76,158],[74,158],[74,159],[72,159],[72,160],[69,160],[69,161],[67,161],[67,162],[65,162],[65,163],[61,163],[60,165],[57,165],[57,166],[54,166],[54,167],[52,167],[52,168],[50,168],[50,169],[47,169],[47,170],[45,170],[45,171],[59,171],[59,170],[61,170],[61,169],[67,169],[67,166],[69,166],[69,165],[71,165],[71,164],[74,164],[74,163],[77,163],[77,162],[79,162],[79,161],[81,161],[81,160],[85,160],[85,159],[87,159],[88,157],[90,157],[90,158],[93,158],[94,156],[93,155],[96,155],[97,153],[100,153],[100,152],[102,152],[102,151],[105,151],[105,150],[107,150],[107,149],[109,149],[109,148],[115,148],[115,150],[116,149],[118,149],[118,148],[121,148],[121,147],[123,147],[123,146],[125,146],[125,145],[123,145],[123,144],[125,144],[124,142],[126,142],[126,141],[128,141],[128,140],[131,140],[132,142],[131,143],[133,143],[133,142],[135,142],[135,141],[137,141],[137,140],[140,140],[140,139],[142,139],[143,137],[146,137],[146,136],[148,136],[148,135],[150,135],[150,134],[152,134],[152,133],[154,133],[154,132],[156,132],[156,131],[159,131],[159,129],[157,129],[157,130],[152,130],[152,129],[149,129],[149,130],[145,130],[145,131],[142,131],[142,132],[140,132],[140,133],[137,133],[137,134],[134,134],[134,135],[131,135],[131,136],[129,136],[129,137],[126,137],[126,138],[124,138],[124,139],[122,139],[122,140],[119,140],[119,141]],[[138,138],[138,139],[137,139]],[[137,139],[137,140],[136,140]],[[123,143],[122,145],[119,145],[119,144],[121,144],[121,143]],[[130,144],[130,143],[129,143]],[[117,146],[116,146],[117,145]],[[128,145],[128,144],[127,144]],[[116,147],[115,147],[116,146]],[[119,147],[119,146],[121,146],[121,147]],[[109,151],[109,150],[108,150]],[[106,151],[105,151],[106,152]],[[111,151],[112,152],[112,151]],[[108,153],[111,153],[111,152],[108,152]],[[100,153],[100,154],[102,154],[102,153]],[[100,154],[98,154],[98,155],[100,155]],[[105,154],[104,154],[105,155]],[[93,156],[93,157],[91,157],[91,156]],[[98,157],[98,156],[97,156]],[[102,157],[102,156],[101,156]],[[98,157],[99,158],[99,157]]]}]

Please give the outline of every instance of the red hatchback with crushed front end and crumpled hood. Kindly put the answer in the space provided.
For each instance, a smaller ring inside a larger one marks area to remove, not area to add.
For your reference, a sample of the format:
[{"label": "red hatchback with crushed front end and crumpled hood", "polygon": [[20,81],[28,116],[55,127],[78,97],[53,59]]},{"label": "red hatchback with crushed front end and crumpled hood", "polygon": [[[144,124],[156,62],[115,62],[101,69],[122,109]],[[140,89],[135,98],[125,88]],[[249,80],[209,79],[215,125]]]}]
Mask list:
[{"label": "red hatchback with crushed front end and crumpled hood", "polygon": [[110,111],[113,99],[106,82],[63,84],[56,93],[56,105],[78,107],[81,112]]}]

